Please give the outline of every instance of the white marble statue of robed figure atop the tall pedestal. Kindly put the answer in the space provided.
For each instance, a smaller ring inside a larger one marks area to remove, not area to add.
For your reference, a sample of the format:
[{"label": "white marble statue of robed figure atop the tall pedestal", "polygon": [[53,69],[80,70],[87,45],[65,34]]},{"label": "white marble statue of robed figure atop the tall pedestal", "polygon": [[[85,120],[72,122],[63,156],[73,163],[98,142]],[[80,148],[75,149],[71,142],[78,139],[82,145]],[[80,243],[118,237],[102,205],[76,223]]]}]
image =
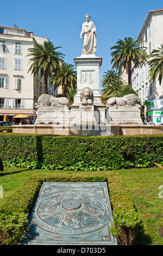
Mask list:
[{"label": "white marble statue of robed figure atop the tall pedestal", "polygon": [[96,38],[96,27],[95,24],[90,21],[90,15],[85,15],[86,22],[82,25],[82,32],[80,33],[80,38],[83,35],[83,47],[82,54],[95,54],[96,53],[96,45],[97,45],[97,38]]}]

